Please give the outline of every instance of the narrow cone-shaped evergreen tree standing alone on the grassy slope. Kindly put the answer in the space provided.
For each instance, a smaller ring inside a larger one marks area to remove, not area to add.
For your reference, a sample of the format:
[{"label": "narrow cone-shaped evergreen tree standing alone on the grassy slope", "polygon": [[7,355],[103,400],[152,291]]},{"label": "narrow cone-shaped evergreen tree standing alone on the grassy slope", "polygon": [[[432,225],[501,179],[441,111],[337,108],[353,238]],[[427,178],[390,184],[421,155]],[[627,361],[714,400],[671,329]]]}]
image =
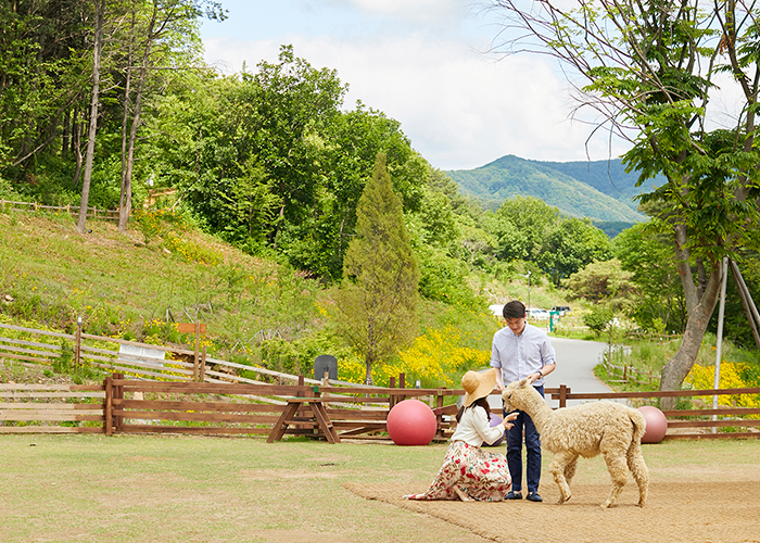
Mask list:
[{"label": "narrow cone-shaped evergreen tree standing alone on the grassy slope", "polygon": [[356,238],[349,244],[343,276],[339,328],[364,357],[371,384],[372,366],[415,338],[419,282],[402,203],[381,153],[356,207]]}]

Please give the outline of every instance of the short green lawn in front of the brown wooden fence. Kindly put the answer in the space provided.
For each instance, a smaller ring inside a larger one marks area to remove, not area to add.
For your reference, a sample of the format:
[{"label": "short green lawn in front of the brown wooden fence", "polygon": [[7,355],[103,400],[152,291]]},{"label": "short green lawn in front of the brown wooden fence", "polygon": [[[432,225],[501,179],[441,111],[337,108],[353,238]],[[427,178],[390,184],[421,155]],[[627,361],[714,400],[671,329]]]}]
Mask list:
[{"label": "short green lawn in front of the brown wooden fence", "polygon": [[[0,435],[0,450],[3,542],[486,541],[342,487],[401,482],[423,491],[443,444]],[[653,481],[720,483],[758,479],[760,470],[760,440],[666,442],[644,445],[644,455]],[[553,485],[544,456],[542,488]],[[580,462],[575,482],[607,481],[601,458]]]}]

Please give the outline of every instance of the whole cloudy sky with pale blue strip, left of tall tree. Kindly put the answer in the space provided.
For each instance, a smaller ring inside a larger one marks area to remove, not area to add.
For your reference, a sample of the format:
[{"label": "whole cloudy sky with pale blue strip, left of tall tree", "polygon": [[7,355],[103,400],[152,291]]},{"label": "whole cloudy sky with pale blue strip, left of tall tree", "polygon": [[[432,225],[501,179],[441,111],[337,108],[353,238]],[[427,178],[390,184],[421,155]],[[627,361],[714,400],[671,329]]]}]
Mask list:
[{"label": "whole cloudy sky with pale blue strip, left of tall tree", "polygon": [[[469,169],[505,154],[541,161],[605,160],[570,121],[568,86],[545,56],[486,53],[499,31],[482,0],[221,0],[229,18],[202,27],[206,60],[224,73],[275,62],[280,45],[335,70],[357,100],[402,124],[441,169]],[[477,4],[480,3],[481,8]]]}]

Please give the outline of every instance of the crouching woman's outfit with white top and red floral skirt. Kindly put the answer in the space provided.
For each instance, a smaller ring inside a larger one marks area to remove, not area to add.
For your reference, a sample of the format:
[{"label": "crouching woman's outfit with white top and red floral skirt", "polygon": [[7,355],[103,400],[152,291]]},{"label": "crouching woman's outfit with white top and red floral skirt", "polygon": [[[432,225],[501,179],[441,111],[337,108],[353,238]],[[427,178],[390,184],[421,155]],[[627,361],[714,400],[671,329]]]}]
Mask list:
[{"label": "crouching woman's outfit with white top and red floral skirt", "polygon": [[[468,416],[469,415],[469,416]],[[459,500],[455,487],[464,491],[472,500],[479,502],[501,502],[511,489],[511,478],[507,459],[502,454],[484,452],[480,444],[483,441],[493,443],[503,435],[503,427],[490,428],[485,409],[474,407],[466,409],[457,431],[452,437],[452,443],[446,450],[446,456],[435,479],[427,492],[408,494],[407,500]],[[482,420],[480,420],[482,419]],[[460,431],[461,430],[461,431]],[[457,439],[457,437],[463,439]]]}]

